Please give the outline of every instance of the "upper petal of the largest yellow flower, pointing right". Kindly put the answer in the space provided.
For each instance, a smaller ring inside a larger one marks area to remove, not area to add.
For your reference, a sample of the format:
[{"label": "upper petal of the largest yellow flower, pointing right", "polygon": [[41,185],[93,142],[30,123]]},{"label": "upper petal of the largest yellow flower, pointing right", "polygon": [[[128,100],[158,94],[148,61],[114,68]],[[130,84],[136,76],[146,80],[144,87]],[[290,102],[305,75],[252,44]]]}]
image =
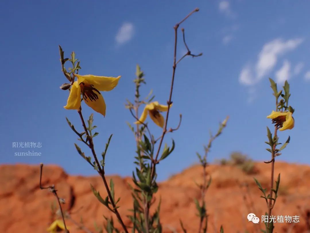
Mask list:
[{"label": "upper petal of the largest yellow flower, pointing right", "polygon": [[89,84],[94,85],[94,87],[99,91],[112,90],[114,87],[117,86],[118,80],[121,78],[121,76],[114,78],[114,77],[105,77],[96,75],[77,75],[77,74],[75,74],[74,76],[78,78],[79,83],[86,80]]}]

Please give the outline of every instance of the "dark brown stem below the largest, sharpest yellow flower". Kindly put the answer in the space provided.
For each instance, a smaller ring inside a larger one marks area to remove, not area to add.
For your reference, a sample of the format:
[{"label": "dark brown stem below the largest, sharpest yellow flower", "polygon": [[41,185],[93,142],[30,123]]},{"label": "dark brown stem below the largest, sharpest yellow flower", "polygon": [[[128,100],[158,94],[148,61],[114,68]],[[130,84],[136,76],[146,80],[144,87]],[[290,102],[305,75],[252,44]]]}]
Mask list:
[{"label": "dark brown stem below the largest, sharpest yellow flower", "polygon": [[100,174],[100,176],[101,176],[101,178],[102,178],[102,180],[103,180],[103,182],[104,182],[105,189],[107,190],[107,193],[108,193],[110,202],[111,202],[111,204],[112,204],[112,206],[113,206],[113,213],[115,213],[115,215],[116,215],[118,221],[121,223],[122,228],[124,229],[124,231],[125,231],[126,233],[128,233],[127,228],[126,228],[126,226],[125,226],[125,224],[124,224],[124,222],[123,222],[123,220],[122,220],[122,217],[121,217],[121,215],[119,214],[119,212],[117,211],[116,205],[115,205],[115,203],[114,203],[113,197],[112,197],[111,192],[110,192],[110,189],[109,189],[109,187],[108,187],[108,183],[107,183],[107,180],[106,180],[105,175],[104,175],[104,167],[101,168],[101,164],[100,164],[100,162],[98,161],[98,158],[97,158],[97,155],[96,155],[96,152],[95,152],[95,149],[94,149],[93,139],[92,139],[92,137],[91,137],[91,136],[89,135],[89,133],[88,133],[88,130],[87,130],[87,127],[86,127],[86,124],[85,124],[85,121],[84,121],[84,118],[83,118],[83,115],[82,115],[82,107],[80,107],[80,108],[78,109],[78,114],[79,114],[79,116],[80,116],[80,118],[81,118],[82,125],[83,125],[83,127],[84,127],[84,130],[85,130],[86,135],[87,135],[87,139],[88,139],[88,141],[89,141],[89,148],[91,149],[91,152],[92,152],[93,157],[94,157],[94,159],[95,159],[95,162],[96,162],[96,164],[97,164],[98,173]]}]

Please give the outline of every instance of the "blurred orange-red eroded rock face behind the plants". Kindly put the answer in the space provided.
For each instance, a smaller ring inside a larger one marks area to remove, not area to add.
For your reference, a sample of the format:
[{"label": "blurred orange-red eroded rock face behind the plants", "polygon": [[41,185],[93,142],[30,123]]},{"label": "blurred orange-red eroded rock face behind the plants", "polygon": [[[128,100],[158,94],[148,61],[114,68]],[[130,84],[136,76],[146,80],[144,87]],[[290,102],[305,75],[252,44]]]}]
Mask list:
[{"label": "blurred orange-red eroded rock face behind the plants", "polygon": [[[206,193],[206,208],[209,214],[207,232],[219,232],[223,225],[224,232],[259,232],[264,224],[248,222],[250,212],[261,218],[267,210],[264,199],[256,186],[255,177],[263,187],[270,186],[270,165],[262,162],[255,164],[257,173],[246,175],[237,167],[210,165],[207,172],[212,176],[212,183]],[[46,232],[54,220],[51,204],[55,197],[48,190],[39,188],[39,165],[3,165],[0,166],[0,226],[1,232]],[[275,223],[276,233],[310,232],[310,167],[306,165],[276,162],[275,177],[281,173],[280,196],[272,214],[275,216],[298,216],[298,223]],[[113,179],[116,197],[121,197],[118,210],[126,225],[130,225],[127,214],[132,208],[132,197],[128,183],[129,177],[107,176],[108,183]],[[165,182],[159,184],[154,207],[162,197],[161,222],[164,232],[182,232],[179,219],[182,219],[188,233],[197,232],[199,219],[196,216],[194,199],[201,193],[197,188],[202,183],[200,166],[190,167]],[[42,185],[55,185],[58,195],[66,200],[64,210],[71,213],[73,221],[80,222],[92,232],[94,222],[102,226],[103,215],[112,214],[98,202],[90,184],[106,196],[103,182],[99,176],[69,176],[56,166],[44,166]],[[247,184],[244,186],[243,184]],[[242,186],[243,185],[243,186]],[[115,219],[115,218],[114,218]],[[66,221],[70,233],[85,232],[78,230],[73,221]],[[115,219],[115,225],[118,225]]]}]

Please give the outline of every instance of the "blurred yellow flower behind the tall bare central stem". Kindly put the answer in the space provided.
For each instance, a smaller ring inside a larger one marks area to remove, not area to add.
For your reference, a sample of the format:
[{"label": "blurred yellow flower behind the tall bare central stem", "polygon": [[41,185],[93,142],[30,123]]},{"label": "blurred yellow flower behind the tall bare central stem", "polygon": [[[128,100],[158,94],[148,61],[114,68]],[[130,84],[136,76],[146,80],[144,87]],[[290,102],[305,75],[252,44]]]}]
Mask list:
[{"label": "blurred yellow flower behind the tall bare central stem", "polygon": [[[170,104],[170,107],[171,106],[172,104]],[[135,124],[140,124],[140,122],[144,122],[148,114],[157,126],[164,127],[164,117],[162,116],[162,114],[160,114],[160,112],[166,112],[167,110],[167,105],[161,105],[157,101],[149,103],[144,107],[139,121],[136,121]]]}]

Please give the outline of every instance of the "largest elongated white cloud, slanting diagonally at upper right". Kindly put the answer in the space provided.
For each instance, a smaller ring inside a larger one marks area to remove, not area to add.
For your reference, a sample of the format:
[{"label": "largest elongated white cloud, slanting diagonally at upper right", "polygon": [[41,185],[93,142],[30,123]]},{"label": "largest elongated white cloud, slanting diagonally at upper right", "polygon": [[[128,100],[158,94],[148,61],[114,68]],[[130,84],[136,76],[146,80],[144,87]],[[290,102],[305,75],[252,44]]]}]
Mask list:
[{"label": "largest elongated white cloud, slanting diagonally at upper right", "polygon": [[274,39],[264,44],[258,54],[255,66],[247,65],[240,73],[239,82],[243,85],[255,85],[268,75],[277,64],[278,57],[297,48],[303,39]]}]

